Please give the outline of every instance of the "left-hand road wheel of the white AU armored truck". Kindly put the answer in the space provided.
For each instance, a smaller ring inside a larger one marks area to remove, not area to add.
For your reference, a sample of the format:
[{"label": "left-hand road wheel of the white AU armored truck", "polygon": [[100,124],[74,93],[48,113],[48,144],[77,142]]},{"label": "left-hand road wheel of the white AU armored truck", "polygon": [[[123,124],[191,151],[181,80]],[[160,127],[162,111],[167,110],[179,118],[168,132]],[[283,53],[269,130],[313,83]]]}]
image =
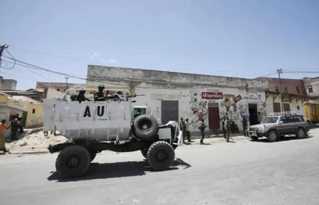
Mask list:
[{"label": "left-hand road wheel of the white AU armored truck", "polygon": [[71,145],[59,153],[55,168],[61,177],[80,177],[89,168],[90,161],[91,155],[85,147]]}]

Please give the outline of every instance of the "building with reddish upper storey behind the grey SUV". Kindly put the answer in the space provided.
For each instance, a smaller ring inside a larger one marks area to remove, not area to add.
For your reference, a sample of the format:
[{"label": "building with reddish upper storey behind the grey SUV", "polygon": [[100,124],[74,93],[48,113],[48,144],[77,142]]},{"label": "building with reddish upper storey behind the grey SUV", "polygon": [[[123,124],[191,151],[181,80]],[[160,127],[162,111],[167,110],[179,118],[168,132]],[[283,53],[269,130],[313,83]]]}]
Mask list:
[{"label": "building with reddish upper storey behind the grey SUV", "polygon": [[258,78],[269,83],[266,91],[267,112],[296,111],[305,115],[305,102],[313,100],[307,96],[304,81],[299,79],[281,79],[282,102],[278,78]]}]

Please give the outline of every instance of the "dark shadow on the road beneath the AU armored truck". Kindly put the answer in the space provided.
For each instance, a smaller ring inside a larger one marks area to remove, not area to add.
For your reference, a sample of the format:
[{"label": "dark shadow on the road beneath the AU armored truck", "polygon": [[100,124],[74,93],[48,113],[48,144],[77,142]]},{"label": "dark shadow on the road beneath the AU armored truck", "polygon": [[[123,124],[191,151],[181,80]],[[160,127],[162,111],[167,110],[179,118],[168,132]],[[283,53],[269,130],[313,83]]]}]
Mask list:
[{"label": "dark shadow on the road beneath the AU armored truck", "polygon": [[93,180],[93,179],[107,179],[117,177],[133,177],[146,175],[146,172],[167,172],[178,169],[187,169],[191,167],[188,163],[183,160],[176,158],[173,162],[172,167],[163,171],[156,171],[149,166],[149,163],[144,161],[139,162],[115,162],[115,163],[91,163],[89,169],[79,178],[61,178],[58,173],[51,172],[52,174],[47,178],[49,181],[57,182],[74,182],[82,180]]}]

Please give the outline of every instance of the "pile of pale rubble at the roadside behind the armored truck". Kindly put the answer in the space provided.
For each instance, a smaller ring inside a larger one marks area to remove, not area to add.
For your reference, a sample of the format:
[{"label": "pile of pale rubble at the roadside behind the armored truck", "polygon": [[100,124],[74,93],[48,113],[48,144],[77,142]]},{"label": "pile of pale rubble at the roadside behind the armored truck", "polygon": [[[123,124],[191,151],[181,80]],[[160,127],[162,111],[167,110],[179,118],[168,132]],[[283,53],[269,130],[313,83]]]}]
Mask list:
[{"label": "pile of pale rubble at the roadside behind the armored truck", "polygon": [[12,154],[47,153],[49,144],[67,141],[65,137],[56,132],[56,136],[48,133],[44,136],[42,128],[25,129],[24,133],[18,135],[18,140],[5,139],[5,147]]}]

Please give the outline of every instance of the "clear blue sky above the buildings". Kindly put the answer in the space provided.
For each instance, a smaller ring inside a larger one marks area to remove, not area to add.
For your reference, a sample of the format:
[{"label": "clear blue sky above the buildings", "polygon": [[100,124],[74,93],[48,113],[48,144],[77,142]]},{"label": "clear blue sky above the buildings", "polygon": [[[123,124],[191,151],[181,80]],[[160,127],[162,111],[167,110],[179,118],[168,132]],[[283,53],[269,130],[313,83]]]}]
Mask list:
[{"label": "clear blue sky above the buildings", "polygon": [[[244,78],[319,72],[318,10],[317,0],[3,0],[0,44],[82,78],[88,64]],[[0,71],[18,90],[65,82],[19,65]]]}]

